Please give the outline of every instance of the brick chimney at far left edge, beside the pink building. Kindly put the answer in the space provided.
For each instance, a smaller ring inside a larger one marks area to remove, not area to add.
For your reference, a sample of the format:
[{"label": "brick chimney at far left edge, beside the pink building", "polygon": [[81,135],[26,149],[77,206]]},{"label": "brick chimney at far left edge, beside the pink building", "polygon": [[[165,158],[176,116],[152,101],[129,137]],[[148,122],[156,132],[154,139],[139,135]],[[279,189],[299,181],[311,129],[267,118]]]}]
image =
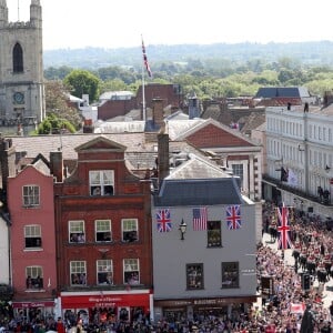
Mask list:
[{"label": "brick chimney at far left edge, beside the pink building", "polygon": [[14,176],[16,172],[16,150],[11,139],[0,137],[0,163],[2,175],[2,190],[7,193],[8,178]]}]

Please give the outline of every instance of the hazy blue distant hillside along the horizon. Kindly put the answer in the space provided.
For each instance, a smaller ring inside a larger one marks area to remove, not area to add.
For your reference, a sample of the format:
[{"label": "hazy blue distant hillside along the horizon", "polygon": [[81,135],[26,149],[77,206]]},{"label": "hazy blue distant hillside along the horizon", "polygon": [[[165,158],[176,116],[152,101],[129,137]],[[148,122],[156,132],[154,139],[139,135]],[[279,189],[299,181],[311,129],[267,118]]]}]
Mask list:
[{"label": "hazy blue distant hillside along the horizon", "polygon": [[[215,43],[145,46],[151,67],[161,62],[186,62],[188,60],[212,61],[228,60],[244,63],[254,59],[274,62],[281,58],[296,59],[307,65],[333,67],[333,42],[290,42],[290,43]],[[138,48],[84,48],[43,51],[44,68],[62,65],[81,69],[98,69],[112,65],[140,68],[142,49]]]}]

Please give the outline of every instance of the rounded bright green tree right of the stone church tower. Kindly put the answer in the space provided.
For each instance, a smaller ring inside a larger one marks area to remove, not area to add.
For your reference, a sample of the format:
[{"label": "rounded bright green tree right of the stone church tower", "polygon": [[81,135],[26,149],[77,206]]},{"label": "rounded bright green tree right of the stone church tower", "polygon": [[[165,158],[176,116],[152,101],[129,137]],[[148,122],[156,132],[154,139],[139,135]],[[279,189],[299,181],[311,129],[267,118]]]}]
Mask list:
[{"label": "rounded bright green tree right of the stone church tower", "polygon": [[71,93],[81,98],[89,94],[91,101],[95,101],[100,93],[100,79],[87,70],[73,70],[64,79],[64,84],[72,88]]}]

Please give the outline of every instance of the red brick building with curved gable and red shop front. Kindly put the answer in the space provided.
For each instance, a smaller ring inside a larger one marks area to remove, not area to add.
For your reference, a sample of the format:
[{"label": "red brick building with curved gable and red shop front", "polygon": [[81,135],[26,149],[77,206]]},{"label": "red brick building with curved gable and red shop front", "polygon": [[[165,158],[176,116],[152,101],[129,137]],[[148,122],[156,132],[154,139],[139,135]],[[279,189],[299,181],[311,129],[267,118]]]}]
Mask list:
[{"label": "red brick building with curved gable and red shop front", "polygon": [[152,289],[150,183],[127,168],[125,147],[98,137],[75,149],[63,179],[53,158],[57,266],[65,315],[149,313]]}]

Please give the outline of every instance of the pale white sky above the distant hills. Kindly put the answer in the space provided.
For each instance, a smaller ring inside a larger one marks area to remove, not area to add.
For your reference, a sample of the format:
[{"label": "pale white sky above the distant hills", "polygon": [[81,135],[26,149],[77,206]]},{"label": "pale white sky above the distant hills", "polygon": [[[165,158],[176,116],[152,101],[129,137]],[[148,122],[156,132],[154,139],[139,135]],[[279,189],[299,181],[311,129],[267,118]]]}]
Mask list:
[{"label": "pale white sky above the distant hills", "polygon": [[[43,49],[333,41],[332,0],[40,0]],[[7,0],[29,21],[31,0]]]}]

